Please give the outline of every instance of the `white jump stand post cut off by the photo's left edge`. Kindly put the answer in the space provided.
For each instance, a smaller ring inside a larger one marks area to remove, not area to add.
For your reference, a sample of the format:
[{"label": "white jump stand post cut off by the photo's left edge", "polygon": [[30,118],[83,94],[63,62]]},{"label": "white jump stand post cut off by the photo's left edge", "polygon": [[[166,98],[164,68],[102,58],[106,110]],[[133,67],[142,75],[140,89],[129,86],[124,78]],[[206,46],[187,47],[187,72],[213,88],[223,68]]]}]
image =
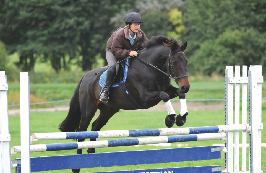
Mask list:
[{"label": "white jump stand post cut off by the photo's left edge", "polygon": [[0,172],[11,173],[10,134],[7,102],[7,76],[0,71]]}]

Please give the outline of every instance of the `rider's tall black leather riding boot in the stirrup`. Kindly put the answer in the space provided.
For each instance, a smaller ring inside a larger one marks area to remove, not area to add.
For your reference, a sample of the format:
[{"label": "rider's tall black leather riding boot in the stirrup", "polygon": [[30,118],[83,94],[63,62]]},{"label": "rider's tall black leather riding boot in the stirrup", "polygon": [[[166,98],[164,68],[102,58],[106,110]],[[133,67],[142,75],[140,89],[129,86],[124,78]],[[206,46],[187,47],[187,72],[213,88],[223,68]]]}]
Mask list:
[{"label": "rider's tall black leather riding boot in the stirrup", "polygon": [[111,84],[113,81],[113,78],[115,77],[116,72],[112,72],[111,70],[107,70],[107,74],[106,74],[106,79],[105,79],[105,84],[103,87],[103,93],[100,97],[100,101],[107,103],[108,99],[109,99],[109,90],[111,88]]}]

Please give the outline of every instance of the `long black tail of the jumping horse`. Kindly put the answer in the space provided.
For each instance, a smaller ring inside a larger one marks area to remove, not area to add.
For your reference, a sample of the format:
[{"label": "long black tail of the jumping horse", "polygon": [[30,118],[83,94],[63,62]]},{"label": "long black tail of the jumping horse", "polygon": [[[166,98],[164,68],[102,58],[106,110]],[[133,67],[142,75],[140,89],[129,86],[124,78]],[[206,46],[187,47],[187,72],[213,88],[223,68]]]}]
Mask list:
[{"label": "long black tail of the jumping horse", "polygon": [[74,95],[71,98],[69,112],[67,114],[66,119],[64,119],[64,121],[59,124],[58,129],[61,132],[75,132],[80,128],[81,112],[79,90],[82,79],[80,80],[77,88],[75,89]]}]

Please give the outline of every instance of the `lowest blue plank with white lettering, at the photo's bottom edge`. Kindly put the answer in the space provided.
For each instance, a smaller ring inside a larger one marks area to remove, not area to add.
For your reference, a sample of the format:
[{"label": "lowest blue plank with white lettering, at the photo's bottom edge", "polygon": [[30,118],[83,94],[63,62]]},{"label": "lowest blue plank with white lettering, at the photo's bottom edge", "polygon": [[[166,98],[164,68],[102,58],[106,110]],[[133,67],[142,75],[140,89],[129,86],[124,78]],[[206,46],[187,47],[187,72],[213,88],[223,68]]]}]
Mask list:
[{"label": "lowest blue plank with white lettering, at the photo's bottom edge", "polygon": [[[162,168],[162,169],[140,169],[140,170],[129,170],[129,171],[108,171],[108,172],[94,172],[94,173],[220,173],[221,171],[212,172],[212,168],[221,167],[220,165],[215,166],[202,166],[202,167],[181,167],[181,168]],[[166,171],[166,172],[165,172]]]}]

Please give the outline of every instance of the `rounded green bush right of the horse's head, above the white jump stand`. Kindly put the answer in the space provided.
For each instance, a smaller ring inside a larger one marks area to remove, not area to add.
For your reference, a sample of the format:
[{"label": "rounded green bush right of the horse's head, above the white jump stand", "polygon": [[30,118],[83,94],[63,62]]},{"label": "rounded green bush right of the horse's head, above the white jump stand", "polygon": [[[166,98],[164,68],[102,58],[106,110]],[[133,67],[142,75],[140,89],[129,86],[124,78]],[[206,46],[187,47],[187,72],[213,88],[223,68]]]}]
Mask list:
[{"label": "rounded green bush right of the horse's head, above the white jump stand", "polygon": [[196,71],[224,74],[226,65],[266,65],[266,34],[250,28],[227,29],[215,40],[203,42],[191,60]]}]

